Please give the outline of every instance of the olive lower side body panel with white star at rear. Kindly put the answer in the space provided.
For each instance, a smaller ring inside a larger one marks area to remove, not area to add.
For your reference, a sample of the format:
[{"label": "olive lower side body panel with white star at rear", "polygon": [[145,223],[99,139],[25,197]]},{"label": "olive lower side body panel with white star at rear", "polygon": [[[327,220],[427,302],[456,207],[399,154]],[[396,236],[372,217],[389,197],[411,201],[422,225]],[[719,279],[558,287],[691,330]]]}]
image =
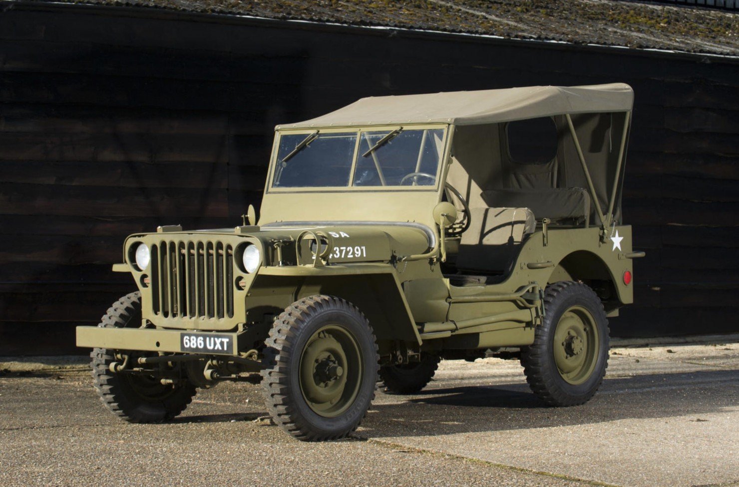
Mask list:
[{"label": "olive lower side body panel with white star at rear", "polygon": [[624,274],[633,272],[632,260],[627,258],[631,228],[616,227],[611,236],[602,241],[595,227],[548,229],[546,238],[539,230],[525,241],[511,274],[501,283],[453,286],[449,279],[406,283],[416,322],[434,322],[426,323],[423,330],[429,332],[422,338],[441,339],[442,348],[528,345],[534,339],[537,312],[506,296],[532,285],[543,291],[559,280],[588,283],[599,293],[606,311],[616,313],[619,306],[633,302],[632,286],[624,283]]}]

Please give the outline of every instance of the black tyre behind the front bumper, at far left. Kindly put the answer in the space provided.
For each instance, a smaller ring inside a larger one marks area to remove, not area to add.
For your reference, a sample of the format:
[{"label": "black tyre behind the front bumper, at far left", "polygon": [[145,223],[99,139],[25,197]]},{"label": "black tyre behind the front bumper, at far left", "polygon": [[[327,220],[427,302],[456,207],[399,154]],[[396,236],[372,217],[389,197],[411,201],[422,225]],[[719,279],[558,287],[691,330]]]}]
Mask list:
[{"label": "black tyre behind the front bumper, at far left", "polygon": [[[113,303],[103,316],[100,327],[138,328],[141,325],[141,294],[126,294]],[[112,373],[110,365],[118,362],[120,350],[93,348],[92,379],[105,406],[129,423],[160,423],[179,415],[191,403],[197,389],[190,381],[163,385],[156,376]],[[130,353],[130,352],[129,352]]]}]

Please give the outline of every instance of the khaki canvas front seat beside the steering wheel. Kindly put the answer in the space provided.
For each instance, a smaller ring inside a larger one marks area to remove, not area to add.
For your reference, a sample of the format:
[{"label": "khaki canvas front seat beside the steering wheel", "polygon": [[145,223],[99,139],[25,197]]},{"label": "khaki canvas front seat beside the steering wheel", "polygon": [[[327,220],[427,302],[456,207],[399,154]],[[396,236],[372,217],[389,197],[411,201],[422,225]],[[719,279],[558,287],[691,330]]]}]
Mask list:
[{"label": "khaki canvas front seat beside the steering wheel", "polygon": [[457,269],[471,274],[507,274],[536,220],[528,208],[470,208]]}]

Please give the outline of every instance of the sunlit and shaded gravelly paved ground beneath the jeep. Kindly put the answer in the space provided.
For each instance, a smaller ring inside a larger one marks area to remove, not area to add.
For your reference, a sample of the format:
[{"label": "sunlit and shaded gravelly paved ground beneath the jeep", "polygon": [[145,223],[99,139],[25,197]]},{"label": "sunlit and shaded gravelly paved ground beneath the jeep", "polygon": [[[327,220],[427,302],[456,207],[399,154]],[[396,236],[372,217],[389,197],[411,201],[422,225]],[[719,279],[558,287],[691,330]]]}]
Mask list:
[{"label": "sunlit and shaded gravelly paved ground beneath the jeep", "polygon": [[353,438],[302,443],[259,386],[221,384],[168,424],[125,424],[79,370],[0,376],[0,486],[739,486],[739,344],[612,350],[582,407],[543,407],[515,361],[443,362],[382,392]]}]

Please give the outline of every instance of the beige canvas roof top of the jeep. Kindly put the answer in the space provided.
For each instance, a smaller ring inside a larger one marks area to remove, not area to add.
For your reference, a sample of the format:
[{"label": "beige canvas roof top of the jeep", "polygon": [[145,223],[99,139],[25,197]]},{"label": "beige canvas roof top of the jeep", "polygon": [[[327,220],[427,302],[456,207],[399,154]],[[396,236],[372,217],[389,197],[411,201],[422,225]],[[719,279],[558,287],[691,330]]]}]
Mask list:
[{"label": "beige canvas roof top of the jeep", "polygon": [[633,90],[624,83],[367,97],[321,117],[277,128],[409,123],[483,125],[558,114],[628,111],[633,97]]}]

